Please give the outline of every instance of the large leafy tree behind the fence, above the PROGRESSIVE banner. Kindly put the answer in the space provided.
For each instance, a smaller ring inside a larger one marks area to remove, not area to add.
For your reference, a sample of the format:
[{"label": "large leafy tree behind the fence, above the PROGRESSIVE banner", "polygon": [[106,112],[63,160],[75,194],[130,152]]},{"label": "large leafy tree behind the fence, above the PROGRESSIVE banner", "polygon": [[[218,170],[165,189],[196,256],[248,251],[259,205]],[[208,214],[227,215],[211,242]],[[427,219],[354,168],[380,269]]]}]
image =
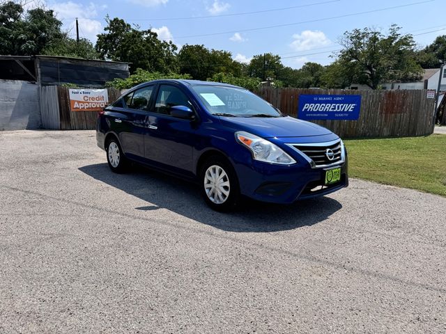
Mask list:
[{"label": "large leafy tree behind the fence, above the PROGRESSIVE banner", "polygon": [[401,35],[392,25],[387,35],[373,29],[346,31],[339,44],[339,65],[353,74],[353,81],[372,89],[384,81],[418,79],[422,68],[415,61],[413,36]]}]

